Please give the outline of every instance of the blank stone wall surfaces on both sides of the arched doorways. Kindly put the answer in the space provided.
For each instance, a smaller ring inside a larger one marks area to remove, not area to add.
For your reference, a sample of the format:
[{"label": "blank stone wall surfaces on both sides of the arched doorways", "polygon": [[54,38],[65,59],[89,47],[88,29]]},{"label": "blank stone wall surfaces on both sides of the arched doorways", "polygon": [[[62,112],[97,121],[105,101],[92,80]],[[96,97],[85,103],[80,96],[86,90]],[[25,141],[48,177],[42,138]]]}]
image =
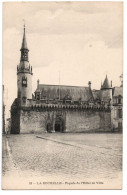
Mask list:
[{"label": "blank stone wall surfaces on both sides of the arched doorways", "polygon": [[[93,110],[64,110],[64,132],[109,132],[111,131],[111,112]],[[53,130],[57,111],[23,111],[20,112],[20,133],[45,132],[47,123]]]}]

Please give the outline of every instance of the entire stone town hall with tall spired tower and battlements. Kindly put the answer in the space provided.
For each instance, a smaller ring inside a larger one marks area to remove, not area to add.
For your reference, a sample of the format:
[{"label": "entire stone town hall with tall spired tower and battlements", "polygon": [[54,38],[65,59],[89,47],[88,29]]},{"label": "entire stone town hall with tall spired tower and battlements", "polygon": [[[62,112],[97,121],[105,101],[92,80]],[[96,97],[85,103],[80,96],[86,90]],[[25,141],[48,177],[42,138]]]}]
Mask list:
[{"label": "entire stone town hall with tall spired tower and battlements", "polygon": [[[32,66],[25,27],[17,66],[17,98],[11,106],[11,133],[111,132],[112,84],[107,75],[100,90],[88,86],[46,85],[32,94]],[[114,97],[115,97],[114,90]]]}]

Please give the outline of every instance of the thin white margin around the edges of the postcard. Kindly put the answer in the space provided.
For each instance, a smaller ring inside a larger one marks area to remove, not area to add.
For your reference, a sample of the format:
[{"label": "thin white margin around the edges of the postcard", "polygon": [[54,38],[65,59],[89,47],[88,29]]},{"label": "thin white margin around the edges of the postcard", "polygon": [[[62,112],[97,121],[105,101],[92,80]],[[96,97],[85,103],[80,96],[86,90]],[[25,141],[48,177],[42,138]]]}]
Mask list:
[{"label": "thin white margin around the edges of the postcard", "polygon": [[[24,1],[24,0],[22,0]],[[33,0],[27,0],[27,1],[33,1]],[[34,0],[35,1],[35,0]],[[40,1],[43,1],[43,0],[40,0]],[[46,1],[46,0],[45,0]],[[52,1],[52,0],[50,0]],[[60,0],[59,0],[60,1]],[[87,0],[88,1],[88,0]],[[92,0],[92,1],[95,1],[95,0]],[[97,0],[97,1],[102,1],[102,0]],[[106,0],[105,0],[106,1]],[[108,0],[109,1],[109,0]],[[114,1],[114,0],[112,0]],[[7,0],[7,1],[2,1],[2,2],[11,2],[11,0]],[[0,1],[0,54],[1,54],[1,58],[0,58],[0,73],[2,75],[2,2]],[[14,2],[14,1],[13,1]],[[120,2],[120,1],[118,1]],[[10,195],[11,194],[22,194],[22,193],[30,193],[30,194],[34,194],[34,193],[43,193],[43,194],[70,194],[70,193],[73,193],[73,194],[84,194],[84,193],[87,193],[87,194],[103,194],[103,195],[107,195],[107,193],[111,193],[111,194],[127,194],[127,123],[126,123],[126,120],[127,120],[127,0],[123,0],[121,2],[124,2],[124,58],[123,58],[123,65],[124,65],[124,121],[123,121],[123,125],[124,125],[124,129],[123,129],[123,189],[122,190],[24,190],[24,191],[20,191],[20,190],[8,190],[8,191],[3,191],[3,190],[0,190],[0,193],[1,194],[6,194],[6,193],[9,193]],[[2,76],[0,77],[0,93],[1,93],[1,96],[0,96],[0,105],[1,105],[1,108],[2,108]],[[2,110],[0,109],[0,116],[2,116]],[[2,119],[2,117],[1,117]],[[2,120],[1,120],[2,122]],[[0,127],[1,127],[1,123],[0,123]],[[1,128],[0,128],[1,130]],[[0,131],[0,136],[2,135],[1,134],[2,130]],[[1,140],[2,140],[2,136],[0,137]],[[2,144],[1,144],[1,141],[0,141],[0,148],[2,148]],[[1,150],[0,150],[1,151]],[[0,152],[0,157],[1,157],[1,152]],[[0,160],[1,162],[1,160]],[[1,163],[0,163],[1,164]],[[0,166],[0,173],[1,173],[1,166]],[[1,189],[1,177],[0,177],[0,189]]]}]

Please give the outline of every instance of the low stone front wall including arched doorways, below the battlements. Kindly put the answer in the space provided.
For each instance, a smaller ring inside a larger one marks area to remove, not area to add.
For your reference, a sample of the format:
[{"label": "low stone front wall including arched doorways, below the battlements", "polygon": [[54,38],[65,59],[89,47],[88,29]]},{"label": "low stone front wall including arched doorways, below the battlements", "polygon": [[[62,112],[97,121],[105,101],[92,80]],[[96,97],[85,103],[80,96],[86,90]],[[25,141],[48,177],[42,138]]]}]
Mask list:
[{"label": "low stone front wall including arched doorways, below the battlements", "polygon": [[15,133],[112,131],[109,107],[17,107],[12,120],[16,121],[12,123]]}]

